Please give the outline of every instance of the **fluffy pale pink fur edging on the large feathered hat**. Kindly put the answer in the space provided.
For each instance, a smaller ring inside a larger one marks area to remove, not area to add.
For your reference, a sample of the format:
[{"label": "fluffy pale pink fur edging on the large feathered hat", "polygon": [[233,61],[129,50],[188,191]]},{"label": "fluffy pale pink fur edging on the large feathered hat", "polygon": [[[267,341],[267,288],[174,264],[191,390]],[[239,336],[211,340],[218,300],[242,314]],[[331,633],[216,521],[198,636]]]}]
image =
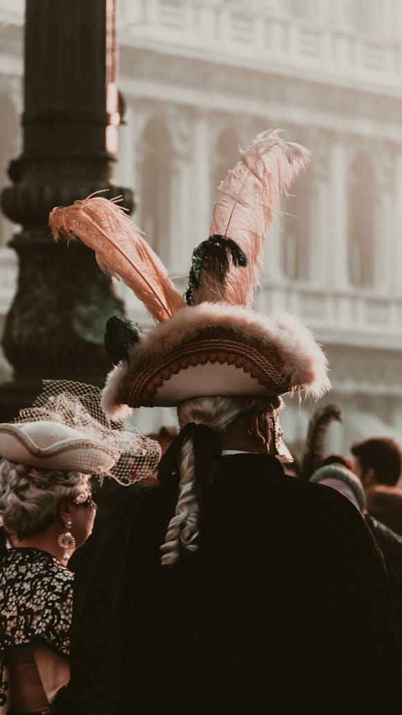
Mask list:
[{"label": "fluffy pale pink fur edging on the large feathered hat", "polygon": [[[127,404],[141,371],[169,360],[192,341],[206,338],[233,338],[244,347],[245,355],[250,346],[267,360],[272,359],[281,383],[278,393],[304,389],[306,395],[320,398],[331,387],[326,356],[296,317],[288,313],[266,317],[223,303],[201,303],[183,308],[171,320],[152,327],[129,348],[129,367],[121,363],[115,368],[104,388],[102,406],[106,413],[114,417],[115,409],[119,411],[121,404]],[[195,396],[196,385],[189,397]]]}]

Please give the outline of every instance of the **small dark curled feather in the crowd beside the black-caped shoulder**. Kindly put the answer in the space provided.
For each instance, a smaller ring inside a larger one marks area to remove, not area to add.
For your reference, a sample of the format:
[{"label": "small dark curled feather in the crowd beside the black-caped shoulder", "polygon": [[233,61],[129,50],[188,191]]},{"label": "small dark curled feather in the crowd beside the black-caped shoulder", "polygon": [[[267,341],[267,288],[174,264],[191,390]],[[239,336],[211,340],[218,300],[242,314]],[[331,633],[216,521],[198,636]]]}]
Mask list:
[{"label": "small dark curled feather in the crowd beside the black-caped shoulder", "polygon": [[301,463],[301,478],[310,479],[320,466],[324,455],[326,433],[333,420],[342,422],[341,409],[337,405],[326,405],[326,407],[318,408],[308,423],[306,445]]}]

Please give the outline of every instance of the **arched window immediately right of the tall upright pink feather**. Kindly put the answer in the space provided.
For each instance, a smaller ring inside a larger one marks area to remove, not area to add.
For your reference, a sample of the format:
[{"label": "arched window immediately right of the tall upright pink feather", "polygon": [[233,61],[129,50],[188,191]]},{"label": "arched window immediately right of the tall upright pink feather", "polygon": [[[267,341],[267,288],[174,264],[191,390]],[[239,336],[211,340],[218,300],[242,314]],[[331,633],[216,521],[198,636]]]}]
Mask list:
[{"label": "arched window immediately right of the tall upright pink feather", "polygon": [[308,174],[298,179],[281,202],[283,274],[293,280],[310,277],[311,182]]}]

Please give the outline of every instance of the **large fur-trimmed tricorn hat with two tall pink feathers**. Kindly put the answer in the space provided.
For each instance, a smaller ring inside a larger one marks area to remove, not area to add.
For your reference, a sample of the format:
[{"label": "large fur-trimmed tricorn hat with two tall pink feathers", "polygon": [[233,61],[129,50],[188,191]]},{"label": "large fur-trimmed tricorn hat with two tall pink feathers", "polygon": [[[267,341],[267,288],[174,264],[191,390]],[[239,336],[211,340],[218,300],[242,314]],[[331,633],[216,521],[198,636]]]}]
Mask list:
[{"label": "large fur-trimmed tricorn hat with two tall pink feathers", "polygon": [[326,358],[308,330],[288,314],[251,310],[264,242],[286,194],[310,159],[279,132],[258,134],[218,189],[211,235],[194,250],[184,297],[116,200],[99,196],[57,207],[54,238],[79,238],[102,270],[131,287],[156,325],[141,333],[111,317],[106,347],[116,367],[102,404],[116,418],[140,405],[177,405],[203,395],[283,395],[329,388]]}]

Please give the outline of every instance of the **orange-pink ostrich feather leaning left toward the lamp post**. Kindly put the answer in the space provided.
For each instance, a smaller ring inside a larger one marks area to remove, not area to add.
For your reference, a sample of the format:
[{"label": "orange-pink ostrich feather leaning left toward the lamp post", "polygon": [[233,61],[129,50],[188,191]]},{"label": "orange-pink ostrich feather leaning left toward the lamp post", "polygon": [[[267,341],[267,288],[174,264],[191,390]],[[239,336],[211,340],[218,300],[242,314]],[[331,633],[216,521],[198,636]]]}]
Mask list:
[{"label": "orange-pink ostrich feather leaning left toward the lamp post", "polygon": [[156,322],[168,320],[185,302],[159,257],[141,231],[116,204],[117,199],[91,196],[49,215],[54,239],[79,239],[94,250],[99,267],[120,277],[144,303]]}]

